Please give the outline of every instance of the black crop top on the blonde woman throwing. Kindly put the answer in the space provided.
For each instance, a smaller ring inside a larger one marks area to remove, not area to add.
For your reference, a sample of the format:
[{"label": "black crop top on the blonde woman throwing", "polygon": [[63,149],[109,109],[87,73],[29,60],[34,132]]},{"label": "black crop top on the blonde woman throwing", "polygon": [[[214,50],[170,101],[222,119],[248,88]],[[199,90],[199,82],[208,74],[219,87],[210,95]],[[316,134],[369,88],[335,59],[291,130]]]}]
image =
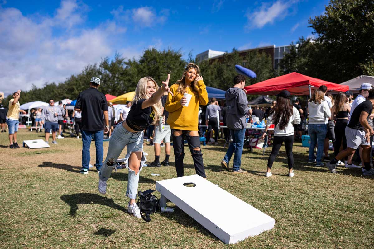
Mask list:
[{"label": "black crop top on the blonde woman throwing", "polygon": [[141,108],[144,100],[140,99],[138,103],[134,102],[126,117],[126,124],[134,131],[144,131],[152,124],[155,117],[155,113],[150,106],[144,109]]}]

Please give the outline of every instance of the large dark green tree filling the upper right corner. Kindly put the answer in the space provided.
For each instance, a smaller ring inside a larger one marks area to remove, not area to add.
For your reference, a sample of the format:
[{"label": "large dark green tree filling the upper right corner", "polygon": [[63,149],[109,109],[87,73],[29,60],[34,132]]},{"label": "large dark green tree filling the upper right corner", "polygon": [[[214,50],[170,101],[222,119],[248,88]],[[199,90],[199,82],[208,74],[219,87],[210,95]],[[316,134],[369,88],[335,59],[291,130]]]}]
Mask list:
[{"label": "large dark green tree filling the upper right corner", "polygon": [[285,73],[341,83],[363,74],[374,59],[374,1],[331,0],[309,24],[316,38],[291,44],[281,62]]}]

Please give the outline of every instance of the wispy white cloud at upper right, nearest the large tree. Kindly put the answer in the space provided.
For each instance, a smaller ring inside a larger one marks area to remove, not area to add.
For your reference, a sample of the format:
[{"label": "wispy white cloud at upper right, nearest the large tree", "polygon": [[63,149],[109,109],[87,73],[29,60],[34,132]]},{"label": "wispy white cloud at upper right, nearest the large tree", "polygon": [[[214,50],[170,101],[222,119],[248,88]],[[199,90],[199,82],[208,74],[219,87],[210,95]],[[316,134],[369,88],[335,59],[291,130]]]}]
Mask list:
[{"label": "wispy white cloud at upper right, nearest the large tree", "polygon": [[263,28],[266,24],[273,24],[275,20],[282,20],[289,15],[289,8],[298,0],[277,0],[273,4],[263,3],[254,12],[247,12],[248,24],[246,28]]}]

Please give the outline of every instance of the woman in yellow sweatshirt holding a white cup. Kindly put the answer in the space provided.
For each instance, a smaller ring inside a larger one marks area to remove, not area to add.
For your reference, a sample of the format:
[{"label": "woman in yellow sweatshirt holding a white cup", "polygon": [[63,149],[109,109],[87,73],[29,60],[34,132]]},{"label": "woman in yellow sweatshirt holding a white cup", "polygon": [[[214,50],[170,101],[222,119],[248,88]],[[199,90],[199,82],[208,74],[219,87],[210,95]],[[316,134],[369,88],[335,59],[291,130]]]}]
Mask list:
[{"label": "woman in yellow sweatshirt holding a white cup", "polygon": [[[208,103],[208,93],[206,92],[203,78],[199,74],[199,66],[189,63],[183,71],[182,78],[170,87],[170,93],[165,104],[165,109],[169,112],[167,122],[173,130],[173,148],[177,177],[183,177],[184,175],[183,141],[184,137],[186,137],[196,174],[206,178],[198,130],[199,105],[206,105]],[[183,96],[184,93],[192,95],[188,106],[185,106],[187,97]]]}]

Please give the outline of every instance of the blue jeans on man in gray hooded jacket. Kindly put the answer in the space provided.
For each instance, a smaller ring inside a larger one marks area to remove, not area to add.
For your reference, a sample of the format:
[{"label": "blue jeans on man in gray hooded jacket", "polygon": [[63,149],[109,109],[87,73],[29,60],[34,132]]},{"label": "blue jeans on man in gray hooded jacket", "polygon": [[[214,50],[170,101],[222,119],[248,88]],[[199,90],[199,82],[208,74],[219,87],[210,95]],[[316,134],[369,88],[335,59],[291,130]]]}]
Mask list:
[{"label": "blue jeans on man in gray hooded jacket", "polygon": [[234,153],[233,171],[238,171],[240,169],[240,165],[242,164],[242,153],[243,153],[245,130],[246,128],[244,128],[243,130],[231,130],[230,129],[230,135],[233,141],[230,143],[229,149],[227,149],[227,152],[226,152],[225,157],[223,158],[223,161],[229,164],[229,161]]}]

